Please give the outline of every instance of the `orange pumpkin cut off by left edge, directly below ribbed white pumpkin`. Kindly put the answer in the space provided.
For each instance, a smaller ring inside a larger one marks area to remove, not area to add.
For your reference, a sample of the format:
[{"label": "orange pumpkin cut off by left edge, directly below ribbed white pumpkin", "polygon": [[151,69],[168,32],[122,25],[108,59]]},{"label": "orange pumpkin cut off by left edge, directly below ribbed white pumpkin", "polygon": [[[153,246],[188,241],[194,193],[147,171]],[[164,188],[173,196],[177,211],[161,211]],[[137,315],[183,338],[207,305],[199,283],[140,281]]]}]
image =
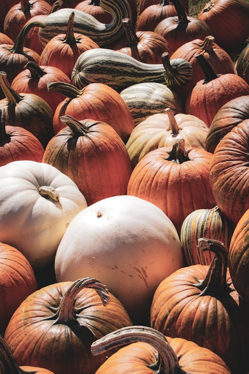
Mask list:
[{"label": "orange pumpkin cut off by left edge, directly below ribbed white pumpkin", "polygon": [[34,272],[16,248],[0,243],[0,334],[20,303],[37,290]]}]

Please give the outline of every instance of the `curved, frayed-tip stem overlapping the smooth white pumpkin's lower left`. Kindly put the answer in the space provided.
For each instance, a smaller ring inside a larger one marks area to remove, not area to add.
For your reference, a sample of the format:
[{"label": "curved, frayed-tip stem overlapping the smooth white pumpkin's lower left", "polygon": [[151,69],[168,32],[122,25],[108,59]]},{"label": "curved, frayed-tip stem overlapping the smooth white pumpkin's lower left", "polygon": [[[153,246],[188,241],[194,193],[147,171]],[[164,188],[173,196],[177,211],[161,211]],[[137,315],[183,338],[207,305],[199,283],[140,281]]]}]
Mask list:
[{"label": "curved, frayed-tip stem overlapping the smooth white pumpkin's lower left", "polygon": [[93,288],[98,295],[104,306],[108,304],[110,301],[109,292],[104,284],[102,284],[96,278],[82,278],[75,281],[65,292],[64,296],[61,299],[60,306],[57,312],[54,315],[55,324],[70,324],[70,322],[74,321],[74,317],[76,314],[75,310],[75,298],[78,293],[84,288]]}]

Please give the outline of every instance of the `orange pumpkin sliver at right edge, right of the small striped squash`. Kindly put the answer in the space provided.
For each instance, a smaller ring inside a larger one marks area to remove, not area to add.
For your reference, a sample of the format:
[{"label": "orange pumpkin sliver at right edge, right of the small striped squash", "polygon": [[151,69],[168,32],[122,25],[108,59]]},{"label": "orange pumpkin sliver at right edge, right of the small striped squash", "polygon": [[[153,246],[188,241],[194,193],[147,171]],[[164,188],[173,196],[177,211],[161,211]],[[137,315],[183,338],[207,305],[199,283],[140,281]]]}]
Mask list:
[{"label": "orange pumpkin sliver at right edge, right of the small striped squash", "polygon": [[236,290],[249,307],[249,210],[239,220],[232,236],[229,270]]}]

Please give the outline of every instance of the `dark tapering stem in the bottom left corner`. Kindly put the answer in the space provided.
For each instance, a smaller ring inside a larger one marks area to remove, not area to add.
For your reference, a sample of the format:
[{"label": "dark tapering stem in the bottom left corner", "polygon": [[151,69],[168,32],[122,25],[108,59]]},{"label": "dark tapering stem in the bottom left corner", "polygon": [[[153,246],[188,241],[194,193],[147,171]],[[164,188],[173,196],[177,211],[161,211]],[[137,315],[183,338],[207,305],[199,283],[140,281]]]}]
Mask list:
[{"label": "dark tapering stem in the bottom left corner", "polygon": [[32,372],[24,372],[21,370],[10,351],[9,346],[0,335],[0,373],[1,374],[32,374]]}]

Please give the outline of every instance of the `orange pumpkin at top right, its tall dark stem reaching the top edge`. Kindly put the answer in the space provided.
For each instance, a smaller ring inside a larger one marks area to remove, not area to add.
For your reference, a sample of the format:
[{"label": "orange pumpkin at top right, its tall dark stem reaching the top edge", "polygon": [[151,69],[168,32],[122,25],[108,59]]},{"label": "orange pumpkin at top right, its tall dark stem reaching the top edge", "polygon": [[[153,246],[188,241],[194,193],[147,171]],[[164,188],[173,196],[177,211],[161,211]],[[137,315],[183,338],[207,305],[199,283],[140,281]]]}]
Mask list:
[{"label": "orange pumpkin at top right, its tall dark stem reaching the top edge", "polygon": [[154,32],[162,35],[174,52],[182,44],[194,39],[204,39],[212,35],[207,23],[197,17],[187,16],[179,0],[171,1],[176,8],[177,16],[163,19],[157,24]]}]

